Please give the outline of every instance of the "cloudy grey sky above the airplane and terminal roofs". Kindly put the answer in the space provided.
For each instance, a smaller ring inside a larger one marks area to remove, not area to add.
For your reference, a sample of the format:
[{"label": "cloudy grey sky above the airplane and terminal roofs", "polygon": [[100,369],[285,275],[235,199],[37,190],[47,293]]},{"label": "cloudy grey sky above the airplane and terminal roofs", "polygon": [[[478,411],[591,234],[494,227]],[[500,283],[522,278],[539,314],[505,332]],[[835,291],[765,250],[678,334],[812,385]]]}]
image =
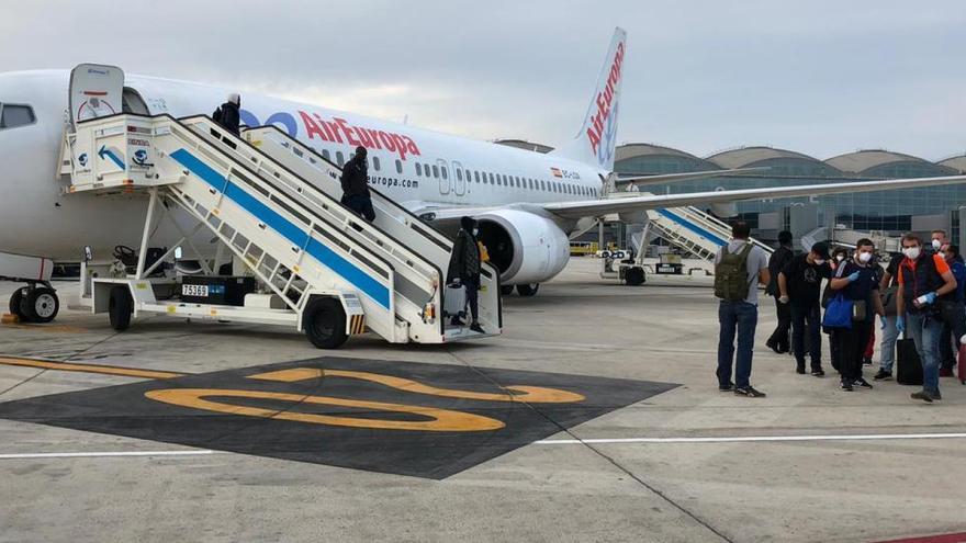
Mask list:
[{"label": "cloudy grey sky above the airplane and terminal roofs", "polygon": [[0,71],[115,64],[557,145],[628,31],[620,142],[966,152],[962,1],[18,2]]}]

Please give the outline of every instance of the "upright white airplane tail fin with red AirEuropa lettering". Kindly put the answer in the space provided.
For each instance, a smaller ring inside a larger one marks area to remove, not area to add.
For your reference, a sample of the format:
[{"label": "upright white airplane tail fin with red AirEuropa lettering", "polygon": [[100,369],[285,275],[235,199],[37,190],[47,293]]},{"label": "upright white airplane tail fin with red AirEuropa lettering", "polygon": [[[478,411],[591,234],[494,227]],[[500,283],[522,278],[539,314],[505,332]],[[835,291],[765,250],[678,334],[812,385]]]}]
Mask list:
[{"label": "upright white airplane tail fin with red AirEuropa lettering", "polygon": [[562,158],[580,160],[605,171],[614,170],[617,144],[617,113],[620,105],[620,81],[624,79],[624,54],[627,32],[617,27],[610,48],[597,77],[594,97],[576,137],[552,151]]}]

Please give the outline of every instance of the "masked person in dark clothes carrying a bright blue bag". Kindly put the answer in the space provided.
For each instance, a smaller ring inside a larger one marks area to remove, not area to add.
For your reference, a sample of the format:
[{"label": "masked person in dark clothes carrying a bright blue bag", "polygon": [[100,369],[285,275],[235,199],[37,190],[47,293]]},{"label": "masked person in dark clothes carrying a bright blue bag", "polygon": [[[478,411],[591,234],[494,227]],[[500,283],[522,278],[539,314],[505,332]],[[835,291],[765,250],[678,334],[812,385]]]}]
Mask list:
[{"label": "masked person in dark clothes carrying a bright blue bag", "polygon": [[851,260],[839,264],[835,278],[830,282],[832,290],[842,293],[854,305],[851,328],[836,328],[835,341],[839,343],[839,372],[842,375],[842,389],[852,391],[854,386],[872,388],[862,376],[862,355],[868,343],[873,327],[873,310],[885,316],[883,301],[879,298],[879,284],[872,269],[875,246],[870,239],[860,239]]}]

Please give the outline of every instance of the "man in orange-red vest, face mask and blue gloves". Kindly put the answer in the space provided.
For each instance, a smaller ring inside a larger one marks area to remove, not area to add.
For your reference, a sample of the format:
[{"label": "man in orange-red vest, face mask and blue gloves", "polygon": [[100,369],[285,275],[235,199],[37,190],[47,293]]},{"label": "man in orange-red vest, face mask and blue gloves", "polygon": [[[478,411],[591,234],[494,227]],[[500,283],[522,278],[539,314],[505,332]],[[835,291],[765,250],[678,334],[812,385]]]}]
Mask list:
[{"label": "man in orange-red vest, face mask and blue gloves", "polygon": [[900,332],[909,328],[922,362],[922,391],[913,399],[932,403],[942,399],[939,374],[939,338],[943,329],[936,301],[955,297],[956,278],[941,254],[925,254],[916,234],[902,237],[906,258],[899,265],[899,294],[896,297]]}]

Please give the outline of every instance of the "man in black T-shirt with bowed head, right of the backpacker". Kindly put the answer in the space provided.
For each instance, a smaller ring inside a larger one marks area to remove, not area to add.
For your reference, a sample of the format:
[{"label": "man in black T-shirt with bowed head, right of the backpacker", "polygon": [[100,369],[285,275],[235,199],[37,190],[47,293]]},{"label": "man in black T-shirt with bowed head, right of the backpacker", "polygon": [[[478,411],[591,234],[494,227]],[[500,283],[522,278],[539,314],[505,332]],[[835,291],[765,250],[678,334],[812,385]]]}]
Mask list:
[{"label": "man in black T-shirt with bowed head, right of the backpacker", "polygon": [[805,254],[798,254],[778,273],[778,302],[791,312],[791,349],[795,371],[805,374],[805,339],[808,338],[811,374],[821,377],[822,337],[820,292],[822,279],[832,276],[829,267],[829,244],[818,242]]}]

